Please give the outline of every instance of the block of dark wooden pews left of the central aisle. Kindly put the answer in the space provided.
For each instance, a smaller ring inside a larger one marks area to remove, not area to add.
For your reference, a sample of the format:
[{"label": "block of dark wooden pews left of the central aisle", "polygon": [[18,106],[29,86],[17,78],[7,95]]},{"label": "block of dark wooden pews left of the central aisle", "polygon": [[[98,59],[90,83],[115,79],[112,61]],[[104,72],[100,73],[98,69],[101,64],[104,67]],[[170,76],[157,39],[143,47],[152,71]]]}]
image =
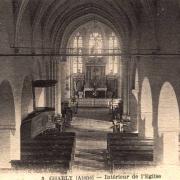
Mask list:
[{"label": "block of dark wooden pews left of the central aisle", "polygon": [[41,134],[21,141],[21,160],[11,161],[15,169],[71,170],[75,152],[75,133]]}]

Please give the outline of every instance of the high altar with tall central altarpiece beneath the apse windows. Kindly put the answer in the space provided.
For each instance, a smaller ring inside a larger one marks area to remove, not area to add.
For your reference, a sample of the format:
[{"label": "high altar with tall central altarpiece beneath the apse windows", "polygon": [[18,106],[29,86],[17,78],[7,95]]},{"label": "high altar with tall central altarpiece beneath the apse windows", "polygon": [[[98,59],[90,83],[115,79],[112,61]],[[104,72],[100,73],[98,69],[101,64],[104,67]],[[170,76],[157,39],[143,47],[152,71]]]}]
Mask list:
[{"label": "high altar with tall central altarpiece beneath the apse windows", "polygon": [[112,98],[117,96],[117,77],[106,75],[106,60],[89,57],[84,73],[73,76],[74,91],[78,98]]}]

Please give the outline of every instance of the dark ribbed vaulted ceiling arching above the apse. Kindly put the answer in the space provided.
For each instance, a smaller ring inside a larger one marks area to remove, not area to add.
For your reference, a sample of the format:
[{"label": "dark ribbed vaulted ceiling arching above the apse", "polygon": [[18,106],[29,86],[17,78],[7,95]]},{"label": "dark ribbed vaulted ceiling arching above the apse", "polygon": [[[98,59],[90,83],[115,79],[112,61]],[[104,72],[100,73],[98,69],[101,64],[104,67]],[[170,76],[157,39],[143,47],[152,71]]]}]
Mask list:
[{"label": "dark ribbed vaulted ceiling arching above the apse", "polygon": [[[17,0],[18,1],[18,0]],[[33,36],[41,27],[47,41],[60,46],[64,32],[66,36],[83,23],[96,19],[119,36],[129,40],[138,33],[143,16],[157,15],[157,4],[161,0],[19,0],[16,31],[26,11],[30,11]]]}]

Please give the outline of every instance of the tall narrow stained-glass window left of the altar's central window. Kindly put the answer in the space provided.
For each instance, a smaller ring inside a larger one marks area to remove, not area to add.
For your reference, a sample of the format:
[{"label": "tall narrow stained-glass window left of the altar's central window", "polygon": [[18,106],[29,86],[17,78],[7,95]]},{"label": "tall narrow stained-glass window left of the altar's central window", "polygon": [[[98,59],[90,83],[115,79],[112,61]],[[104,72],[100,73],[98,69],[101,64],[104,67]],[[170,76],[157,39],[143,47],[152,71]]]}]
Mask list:
[{"label": "tall narrow stained-glass window left of the altar's central window", "polygon": [[[83,39],[78,32],[73,40],[74,53],[82,54]],[[73,73],[82,73],[82,56],[73,56]]]}]

